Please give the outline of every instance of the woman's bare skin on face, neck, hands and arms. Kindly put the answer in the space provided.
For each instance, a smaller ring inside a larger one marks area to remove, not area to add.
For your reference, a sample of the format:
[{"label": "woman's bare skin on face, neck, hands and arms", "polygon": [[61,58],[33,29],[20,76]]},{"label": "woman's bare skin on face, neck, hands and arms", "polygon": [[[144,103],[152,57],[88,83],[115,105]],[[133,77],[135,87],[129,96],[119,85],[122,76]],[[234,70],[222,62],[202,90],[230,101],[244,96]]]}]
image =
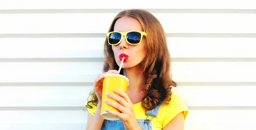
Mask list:
[{"label": "woman's bare skin on face, neck, hands and arms", "polygon": [[[143,28],[139,21],[131,17],[119,18],[115,25],[114,31],[143,31]],[[120,104],[103,101],[108,105],[111,105],[122,113],[118,113],[112,110],[105,111],[113,116],[118,117],[122,120],[125,126],[125,130],[141,130],[140,125],[137,123],[137,119],[134,113],[133,105],[141,102],[144,95],[141,93],[143,85],[145,84],[146,78],[141,74],[141,69],[139,64],[146,56],[145,51],[145,40],[143,40],[139,45],[130,45],[125,41],[123,37],[122,42],[119,45],[112,45],[112,50],[114,52],[114,57],[117,65],[120,65],[121,60],[119,59],[119,54],[125,53],[129,58],[123,62],[123,75],[129,79],[129,87],[127,92],[124,93],[121,90],[113,90],[118,95],[113,95],[106,93],[106,96],[111,99],[116,100]],[[94,90],[96,96],[99,99],[99,104],[96,109],[95,116],[88,113],[87,129],[86,130],[100,130],[102,127],[103,120],[100,116],[101,104],[102,104],[102,82],[103,76],[108,73],[118,73],[116,70],[110,70],[106,73],[99,74],[94,82]],[[170,121],[163,130],[184,130],[184,116],[183,113],[179,113],[172,121]]]}]

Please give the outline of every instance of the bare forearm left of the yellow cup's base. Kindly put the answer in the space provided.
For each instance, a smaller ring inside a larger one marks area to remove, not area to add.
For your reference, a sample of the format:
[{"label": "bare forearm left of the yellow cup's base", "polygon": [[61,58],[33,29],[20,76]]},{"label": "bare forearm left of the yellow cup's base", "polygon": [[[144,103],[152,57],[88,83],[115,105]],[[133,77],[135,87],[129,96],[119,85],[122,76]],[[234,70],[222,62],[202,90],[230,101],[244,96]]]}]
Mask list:
[{"label": "bare forearm left of the yellow cup's base", "polygon": [[99,102],[97,106],[95,116],[88,112],[86,130],[100,130],[102,127],[104,119],[100,116],[101,107],[99,106],[101,106],[101,102]]}]

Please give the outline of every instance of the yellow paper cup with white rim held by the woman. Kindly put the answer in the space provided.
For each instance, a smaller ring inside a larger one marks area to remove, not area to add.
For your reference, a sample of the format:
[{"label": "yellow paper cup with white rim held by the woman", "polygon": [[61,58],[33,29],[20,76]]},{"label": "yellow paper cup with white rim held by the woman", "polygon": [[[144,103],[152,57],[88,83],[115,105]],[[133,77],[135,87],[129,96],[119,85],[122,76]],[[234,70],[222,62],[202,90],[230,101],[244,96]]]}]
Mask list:
[{"label": "yellow paper cup with white rim held by the woman", "polygon": [[[126,93],[127,87],[129,85],[129,80],[127,77],[121,75],[121,74],[106,74],[103,79],[103,88],[102,88],[102,101],[107,100],[110,102],[116,102],[115,100],[107,97],[105,93],[111,93],[118,95],[113,92],[113,89],[122,90]],[[119,102],[116,102],[119,103]],[[119,110],[117,110],[114,107],[111,107],[110,105],[107,105],[105,102],[102,102],[102,110],[101,110],[101,117],[106,120],[116,121],[119,120],[119,118],[112,116],[108,114],[104,109],[113,110],[116,112],[121,113]]]}]

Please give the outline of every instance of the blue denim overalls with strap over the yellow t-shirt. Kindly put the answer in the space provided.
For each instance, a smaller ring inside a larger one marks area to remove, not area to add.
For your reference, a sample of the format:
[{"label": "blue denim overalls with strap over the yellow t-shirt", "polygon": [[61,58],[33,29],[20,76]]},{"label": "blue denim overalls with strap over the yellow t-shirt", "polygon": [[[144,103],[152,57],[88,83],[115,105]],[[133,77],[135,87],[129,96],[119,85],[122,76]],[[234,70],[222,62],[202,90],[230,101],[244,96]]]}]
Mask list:
[{"label": "blue denim overalls with strap over the yellow t-shirt", "polygon": [[[152,116],[152,119],[153,117],[157,117],[160,107],[161,103],[157,105],[157,107],[153,110],[147,111],[146,115]],[[139,123],[142,130],[152,130],[152,119],[148,119],[147,117],[147,119],[137,119],[137,122]],[[104,119],[101,130],[125,130],[125,127],[121,119],[117,121],[110,121]]]}]

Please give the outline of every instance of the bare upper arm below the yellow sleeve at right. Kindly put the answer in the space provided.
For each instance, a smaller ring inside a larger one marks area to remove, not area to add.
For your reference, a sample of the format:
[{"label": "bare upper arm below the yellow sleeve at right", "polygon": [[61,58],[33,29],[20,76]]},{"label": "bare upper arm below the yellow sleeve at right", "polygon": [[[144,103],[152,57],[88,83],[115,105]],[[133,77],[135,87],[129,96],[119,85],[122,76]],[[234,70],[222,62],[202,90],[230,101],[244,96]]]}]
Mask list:
[{"label": "bare upper arm below the yellow sleeve at right", "polygon": [[184,130],[184,120],[184,112],[181,112],[163,127],[163,130]]}]

